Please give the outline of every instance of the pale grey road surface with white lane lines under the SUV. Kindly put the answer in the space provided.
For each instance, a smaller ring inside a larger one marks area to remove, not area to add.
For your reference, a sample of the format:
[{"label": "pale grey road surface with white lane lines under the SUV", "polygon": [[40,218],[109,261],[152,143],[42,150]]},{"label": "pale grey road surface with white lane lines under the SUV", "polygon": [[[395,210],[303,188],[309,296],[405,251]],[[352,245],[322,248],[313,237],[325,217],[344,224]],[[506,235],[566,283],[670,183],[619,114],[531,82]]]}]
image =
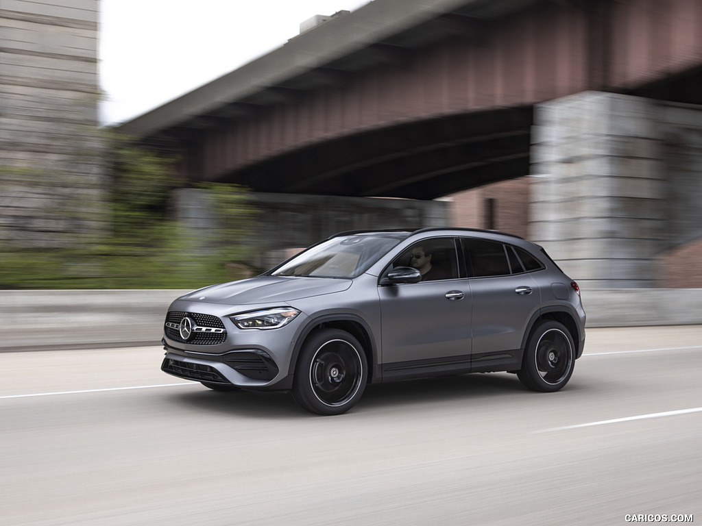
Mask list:
[{"label": "pale grey road surface with white lane lines under the SUV", "polygon": [[161,355],[0,353],[1,525],[702,522],[702,326],[590,330],[559,393],[427,379],[340,417]]}]

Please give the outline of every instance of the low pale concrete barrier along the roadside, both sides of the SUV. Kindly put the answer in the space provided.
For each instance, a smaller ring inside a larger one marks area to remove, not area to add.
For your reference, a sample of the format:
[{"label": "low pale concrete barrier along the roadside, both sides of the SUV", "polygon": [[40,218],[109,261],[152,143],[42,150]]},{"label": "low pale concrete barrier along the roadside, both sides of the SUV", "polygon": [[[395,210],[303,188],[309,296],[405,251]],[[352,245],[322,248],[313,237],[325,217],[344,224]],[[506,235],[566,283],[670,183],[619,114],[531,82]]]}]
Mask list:
[{"label": "low pale concrete barrier along the roadside, both sides of the SUV", "polygon": [[[98,349],[161,341],[187,290],[0,290],[0,351]],[[583,290],[588,327],[702,325],[702,289]]]}]

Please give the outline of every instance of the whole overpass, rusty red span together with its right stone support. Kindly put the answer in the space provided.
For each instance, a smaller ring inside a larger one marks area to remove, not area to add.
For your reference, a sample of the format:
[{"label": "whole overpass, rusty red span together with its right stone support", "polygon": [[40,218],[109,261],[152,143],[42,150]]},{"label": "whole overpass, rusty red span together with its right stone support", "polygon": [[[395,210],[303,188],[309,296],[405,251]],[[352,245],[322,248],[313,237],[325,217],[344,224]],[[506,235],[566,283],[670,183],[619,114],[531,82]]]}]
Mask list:
[{"label": "whole overpass, rusty red span together with its right stone support", "polygon": [[187,181],[277,194],[548,175],[528,236],[592,285],[651,286],[702,237],[701,20],[696,0],[375,0],[121,131]]}]

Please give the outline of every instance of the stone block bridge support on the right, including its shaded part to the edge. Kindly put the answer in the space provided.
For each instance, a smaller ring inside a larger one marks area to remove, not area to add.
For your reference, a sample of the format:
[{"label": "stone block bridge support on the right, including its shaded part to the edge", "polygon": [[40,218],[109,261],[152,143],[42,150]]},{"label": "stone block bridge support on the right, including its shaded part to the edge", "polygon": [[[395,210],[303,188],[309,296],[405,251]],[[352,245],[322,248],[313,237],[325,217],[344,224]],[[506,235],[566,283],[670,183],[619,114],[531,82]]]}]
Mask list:
[{"label": "stone block bridge support on the right, including its shaded part to the edge", "polygon": [[529,238],[589,288],[699,286],[702,108],[588,92],[535,121]]}]

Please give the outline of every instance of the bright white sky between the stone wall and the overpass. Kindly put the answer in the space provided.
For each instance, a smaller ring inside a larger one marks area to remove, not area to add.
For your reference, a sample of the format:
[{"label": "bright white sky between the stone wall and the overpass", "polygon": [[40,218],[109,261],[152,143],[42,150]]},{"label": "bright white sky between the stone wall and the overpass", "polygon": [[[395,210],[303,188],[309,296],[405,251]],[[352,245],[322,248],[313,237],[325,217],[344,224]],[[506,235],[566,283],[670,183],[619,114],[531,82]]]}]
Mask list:
[{"label": "bright white sky between the stone wall and the overpass", "polygon": [[370,0],[100,0],[100,121],[128,121]]}]

